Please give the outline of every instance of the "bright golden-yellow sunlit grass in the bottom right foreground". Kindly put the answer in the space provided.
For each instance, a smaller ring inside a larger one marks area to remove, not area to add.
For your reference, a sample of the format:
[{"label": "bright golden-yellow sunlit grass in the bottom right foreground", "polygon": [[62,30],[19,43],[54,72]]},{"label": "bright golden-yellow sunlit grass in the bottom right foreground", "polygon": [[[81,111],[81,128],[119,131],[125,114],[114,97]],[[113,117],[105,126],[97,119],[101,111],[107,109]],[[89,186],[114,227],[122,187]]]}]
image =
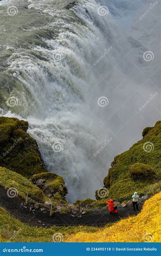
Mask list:
[{"label": "bright golden-yellow sunlit grass in the bottom right foreground", "polygon": [[161,192],[147,200],[142,211],[96,232],[67,234],[64,242],[160,242]]}]

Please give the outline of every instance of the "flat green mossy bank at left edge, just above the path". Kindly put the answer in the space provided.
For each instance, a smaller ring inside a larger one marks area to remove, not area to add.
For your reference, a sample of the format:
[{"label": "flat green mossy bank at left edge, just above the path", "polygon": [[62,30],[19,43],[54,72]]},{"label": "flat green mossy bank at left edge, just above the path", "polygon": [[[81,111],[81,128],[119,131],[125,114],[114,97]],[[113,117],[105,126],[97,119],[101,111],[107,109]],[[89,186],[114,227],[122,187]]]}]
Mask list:
[{"label": "flat green mossy bank at left edge, just above the path", "polygon": [[[20,174],[3,167],[0,167],[0,185],[6,189],[11,187],[17,189],[18,196],[22,199],[26,198],[27,192],[29,193],[29,197],[36,201],[41,201],[41,199],[44,199],[44,195],[38,187],[34,186],[30,181]],[[34,196],[40,198],[40,200]]]}]

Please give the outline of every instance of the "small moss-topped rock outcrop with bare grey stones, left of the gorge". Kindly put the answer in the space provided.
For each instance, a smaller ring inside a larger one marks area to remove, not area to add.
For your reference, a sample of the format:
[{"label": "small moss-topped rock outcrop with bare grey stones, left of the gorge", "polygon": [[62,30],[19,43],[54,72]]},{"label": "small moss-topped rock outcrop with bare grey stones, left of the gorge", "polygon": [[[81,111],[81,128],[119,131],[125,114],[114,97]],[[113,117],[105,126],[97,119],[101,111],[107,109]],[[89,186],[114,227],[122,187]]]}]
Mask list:
[{"label": "small moss-topped rock outcrop with bare grey stones, left of the gorge", "polygon": [[65,200],[68,189],[63,178],[54,172],[33,175],[32,183],[39,186],[52,200]]}]

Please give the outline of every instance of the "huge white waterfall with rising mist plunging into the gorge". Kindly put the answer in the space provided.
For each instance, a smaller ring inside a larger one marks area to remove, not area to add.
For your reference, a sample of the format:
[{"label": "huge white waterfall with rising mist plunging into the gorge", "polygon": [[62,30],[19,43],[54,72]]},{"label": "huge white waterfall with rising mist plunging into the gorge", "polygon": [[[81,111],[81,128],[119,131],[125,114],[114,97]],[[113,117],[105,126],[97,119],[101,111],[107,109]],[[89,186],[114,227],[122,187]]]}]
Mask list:
[{"label": "huge white waterfall with rising mist plunging into the gorge", "polygon": [[[28,9],[18,2],[15,21],[27,11],[35,19],[22,26],[21,37],[17,31],[18,46],[6,44],[12,54],[5,55],[3,73],[13,83],[3,82],[9,93],[2,95],[2,114],[28,120],[48,171],[68,184],[68,200],[94,198],[113,157],[159,119],[159,96],[139,112],[150,94],[159,94],[158,8],[148,13],[149,22],[148,15],[139,20],[149,1],[102,0],[109,9],[104,16],[94,0],[70,10],[70,1],[30,0]],[[11,18],[7,22],[11,28]],[[153,52],[152,62],[143,59],[146,51]],[[8,97],[18,103],[6,105]],[[98,104],[100,97],[107,106]]]}]

